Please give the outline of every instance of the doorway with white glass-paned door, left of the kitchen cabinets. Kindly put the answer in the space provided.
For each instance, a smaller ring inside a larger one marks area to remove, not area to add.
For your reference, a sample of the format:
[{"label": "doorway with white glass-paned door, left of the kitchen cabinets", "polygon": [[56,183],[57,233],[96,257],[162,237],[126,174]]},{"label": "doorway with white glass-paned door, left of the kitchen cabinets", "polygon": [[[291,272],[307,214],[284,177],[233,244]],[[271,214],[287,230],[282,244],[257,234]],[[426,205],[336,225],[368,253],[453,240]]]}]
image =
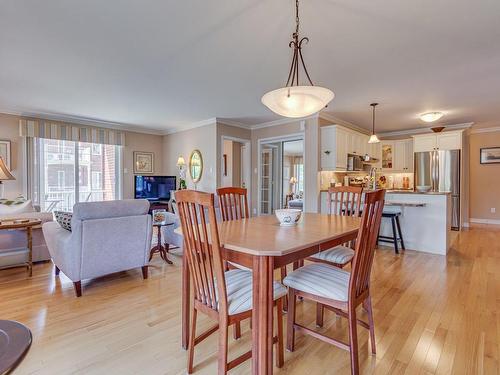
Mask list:
[{"label": "doorway with white glass-paned door, left of the kitchen cabinets", "polygon": [[259,141],[259,215],[280,208],[303,209],[304,139]]}]

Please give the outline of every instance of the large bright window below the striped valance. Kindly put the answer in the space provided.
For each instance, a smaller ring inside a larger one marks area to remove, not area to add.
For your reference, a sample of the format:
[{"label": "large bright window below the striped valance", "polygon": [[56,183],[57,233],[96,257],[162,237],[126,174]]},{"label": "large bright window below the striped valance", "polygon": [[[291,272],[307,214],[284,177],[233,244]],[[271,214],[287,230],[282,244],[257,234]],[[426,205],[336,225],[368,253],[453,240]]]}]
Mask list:
[{"label": "large bright window below the striped valance", "polygon": [[42,211],[121,198],[121,146],[33,139],[31,197]]}]

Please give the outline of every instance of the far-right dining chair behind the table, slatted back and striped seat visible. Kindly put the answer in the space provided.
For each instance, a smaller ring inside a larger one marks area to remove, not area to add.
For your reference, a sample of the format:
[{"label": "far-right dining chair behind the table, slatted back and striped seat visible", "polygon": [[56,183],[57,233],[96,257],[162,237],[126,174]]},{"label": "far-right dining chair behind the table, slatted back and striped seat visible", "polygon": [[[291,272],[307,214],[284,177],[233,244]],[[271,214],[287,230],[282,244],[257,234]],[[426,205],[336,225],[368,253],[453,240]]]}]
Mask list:
[{"label": "far-right dining chair behind the table, slatted back and striped seat visible", "polygon": [[[328,189],[328,214],[358,217],[361,207],[362,187],[336,186]],[[321,250],[307,258],[312,262],[331,264],[343,268],[354,257],[354,244],[347,243],[330,249]]]}]

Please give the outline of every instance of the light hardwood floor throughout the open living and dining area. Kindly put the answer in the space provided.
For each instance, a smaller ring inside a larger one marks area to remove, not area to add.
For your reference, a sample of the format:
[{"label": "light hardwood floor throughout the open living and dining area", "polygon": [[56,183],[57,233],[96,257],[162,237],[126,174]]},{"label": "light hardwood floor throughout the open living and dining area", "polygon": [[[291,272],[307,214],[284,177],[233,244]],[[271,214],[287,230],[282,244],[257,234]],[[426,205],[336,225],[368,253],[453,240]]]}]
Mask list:
[{"label": "light hardwood floor throughout the open living and dining area", "polygon": [[[377,251],[372,274],[377,354],[360,328],[360,369],[365,374],[500,373],[500,228],[477,226],[456,234],[448,257]],[[174,265],[155,256],[150,278],[141,270],[72,283],[54,276],[50,263],[0,271],[0,319],[29,326],[34,343],[15,372],[24,374],[185,374],[180,346],[180,257]],[[315,306],[297,305],[298,321],[314,328]],[[365,317],[363,315],[363,317]],[[200,332],[211,322],[199,321]],[[345,319],[325,313],[322,329],[347,340]],[[230,339],[229,359],[250,347],[248,323]],[[232,335],[231,335],[232,336]],[[195,371],[213,374],[217,334],[198,345]],[[349,353],[297,334],[276,374],[348,374]],[[250,362],[232,370],[249,374]]]}]

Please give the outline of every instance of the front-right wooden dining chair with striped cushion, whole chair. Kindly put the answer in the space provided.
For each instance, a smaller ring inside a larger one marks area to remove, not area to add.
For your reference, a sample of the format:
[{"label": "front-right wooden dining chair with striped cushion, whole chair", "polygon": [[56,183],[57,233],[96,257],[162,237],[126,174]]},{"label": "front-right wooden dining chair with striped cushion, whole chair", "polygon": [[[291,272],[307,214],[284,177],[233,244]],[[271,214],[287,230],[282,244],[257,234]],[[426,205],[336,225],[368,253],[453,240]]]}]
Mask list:
[{"label": "front-right wooden dining chair with striped cushion, whole chair", "polygon": [[[293,351],[295,347],[295,331],[301,331],[348,350],[351,355],[351,373],[359,374],[357,335],[357,324],[359,324],[370,331],[372,353],[376,353],[370,273],[384,208],[384,197],[384,190],[365,194],[351,272],[329,264],[312,263],[293,271],[283,281],[288,286],[287,349],[289,351]],[[346,317],[349,322],[349,343],[298,324],[295,316],[297,297],[320,303],[337,315]],[[366,309],[368,322],[357,318],[356,308],[361,304]]]}]

